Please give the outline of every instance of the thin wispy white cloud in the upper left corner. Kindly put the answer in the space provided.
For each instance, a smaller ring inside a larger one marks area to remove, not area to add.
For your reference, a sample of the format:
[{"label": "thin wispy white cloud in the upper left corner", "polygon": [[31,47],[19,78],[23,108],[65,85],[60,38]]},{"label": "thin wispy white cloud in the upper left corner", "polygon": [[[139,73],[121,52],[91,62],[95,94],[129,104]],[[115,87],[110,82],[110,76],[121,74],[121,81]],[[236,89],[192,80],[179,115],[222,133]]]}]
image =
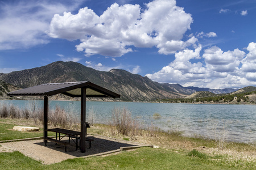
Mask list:
[{"label": "thin wispy white cloud in the upper left corner", "polygon": [[79,2],[6,1],[0,4],[0,50],[30,48],[48,43],[44,31],[53,14],[73,10]]}]

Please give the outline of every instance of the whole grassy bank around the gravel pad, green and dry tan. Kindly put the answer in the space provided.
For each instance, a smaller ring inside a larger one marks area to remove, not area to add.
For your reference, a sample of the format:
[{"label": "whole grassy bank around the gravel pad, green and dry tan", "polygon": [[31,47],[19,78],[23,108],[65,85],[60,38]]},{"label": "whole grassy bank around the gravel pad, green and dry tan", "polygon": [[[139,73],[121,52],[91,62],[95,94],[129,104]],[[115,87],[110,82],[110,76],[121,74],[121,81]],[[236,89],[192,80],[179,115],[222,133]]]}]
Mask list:
[{"label": "whole grassy bank around the gravel pad, green and dry tan", "polygon": [[[13,126],[39,126],[26,119],[0,118],[0,141],[39,137],[42,130],[22,133],[11,130]],[[152,130],[153,129],[153,130]],[[110,125],[94,125],[88,133],[106,135],[135,142],[159,146],[123,151],[117,155],[94,158],[77,158],[61,163],[43,165],[19,152],[0,152],[0,169],[255,169],[256,148],[245,143],[225,143],[204,138],[183,137],[179,131],[163,132],[154,128],[141,130],[137,135],[113,133]],[[1,146],[0,146],[1,147]]]}]

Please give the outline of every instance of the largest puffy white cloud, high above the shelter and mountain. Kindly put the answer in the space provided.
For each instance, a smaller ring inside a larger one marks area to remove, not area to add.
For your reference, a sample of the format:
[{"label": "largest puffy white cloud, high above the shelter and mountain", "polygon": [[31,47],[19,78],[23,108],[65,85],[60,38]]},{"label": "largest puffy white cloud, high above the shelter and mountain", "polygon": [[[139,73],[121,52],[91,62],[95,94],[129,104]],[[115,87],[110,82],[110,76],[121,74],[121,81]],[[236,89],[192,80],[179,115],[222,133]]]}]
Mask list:
[{"label": "largest puffy white cloud, high above the shelter and mountain", "polygon": [[53,38],[77,40],[77,51],[86,56],[101,54],[118,57],[137,48],[156,46],[160,54],[182,50],[195,40],[182,41],[193,19],[175,0],[155,0],[139,5],[111,5],[98,16],[88,7],[75,15],[64,12],[54,15],[48,35]]}]

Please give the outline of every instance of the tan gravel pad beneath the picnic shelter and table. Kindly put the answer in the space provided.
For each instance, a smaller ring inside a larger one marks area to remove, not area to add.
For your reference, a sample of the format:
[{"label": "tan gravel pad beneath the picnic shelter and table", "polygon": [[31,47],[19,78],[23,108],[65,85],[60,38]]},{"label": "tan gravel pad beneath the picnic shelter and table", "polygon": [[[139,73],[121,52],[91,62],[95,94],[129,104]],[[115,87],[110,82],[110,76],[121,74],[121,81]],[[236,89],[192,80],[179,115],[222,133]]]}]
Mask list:
[{"label": "tan gravel pad beneath the picnic shelter and table", "polygon": [[[120,147],[145,146],[142,143],[124,141],[98,135],[88,135],[88,137],[93,139],[93,142],[91,148],[88,148],[89,142],[86,142],[85,153],[81,153],[80,150],[76,151],[76,145],[72,141],[71,145],[67,146],[67,152],[65,152],[64,145],[55,145],[54,142],[48,142],[47,146],[45,146],[43,139],[1,143],[0,152],[19,151],[25,156],[39,160],[43,164],[52,164],[66,159],[109,154],[120,151]],[[68,137],[63,138],[62,140],[68,142]]]}]

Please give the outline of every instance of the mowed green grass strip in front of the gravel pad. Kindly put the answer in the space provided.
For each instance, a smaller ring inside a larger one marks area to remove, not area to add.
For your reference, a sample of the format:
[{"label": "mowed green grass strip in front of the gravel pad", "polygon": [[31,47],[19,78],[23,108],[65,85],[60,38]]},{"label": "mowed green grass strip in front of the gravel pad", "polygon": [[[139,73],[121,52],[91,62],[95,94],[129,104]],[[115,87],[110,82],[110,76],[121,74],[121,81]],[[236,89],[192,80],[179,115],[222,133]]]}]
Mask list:
[{"label": "mowed green grass strip in front of the gravel pad", "polygon": [[[162,148],[139,148],[116,155],[68,159],[61,163],[44,165],[20,154],[0,153],[0,169],[234,169],[205,159],[196,159],[185,153]],[[236,168],[238,169],[238,168]]]}]

